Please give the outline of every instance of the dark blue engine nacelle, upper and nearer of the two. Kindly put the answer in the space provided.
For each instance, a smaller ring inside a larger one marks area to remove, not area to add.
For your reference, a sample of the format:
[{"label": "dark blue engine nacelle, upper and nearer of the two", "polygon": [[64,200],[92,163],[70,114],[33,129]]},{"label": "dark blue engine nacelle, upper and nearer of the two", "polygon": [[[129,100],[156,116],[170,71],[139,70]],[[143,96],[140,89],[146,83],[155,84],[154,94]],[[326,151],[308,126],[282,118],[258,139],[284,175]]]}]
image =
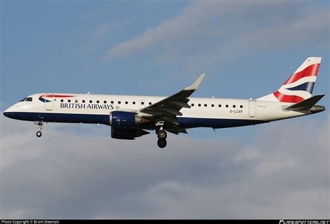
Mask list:
[{"label": "dark blue engine nacelle, upper and nearer of the two", "polygon": [[139,127],[141,117],[134,112],[112,111],[110,113],[109,125],[111,127]]}]

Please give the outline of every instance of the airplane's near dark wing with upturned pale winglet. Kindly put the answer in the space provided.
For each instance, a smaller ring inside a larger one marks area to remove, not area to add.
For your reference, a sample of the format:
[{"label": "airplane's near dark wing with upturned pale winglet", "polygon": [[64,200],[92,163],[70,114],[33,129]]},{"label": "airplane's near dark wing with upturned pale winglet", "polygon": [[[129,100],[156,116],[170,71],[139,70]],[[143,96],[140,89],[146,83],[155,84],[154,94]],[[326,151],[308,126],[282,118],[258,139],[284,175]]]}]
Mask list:
[{"label": "airplane's near dark wing with upturned pale winglet", "polygon": [[[191,86],[182,89],[179,93],[171,95],[171,97],[166,97],[165,99],[162,99],[155,104],[144,107],[140,110],[140,112],[153,115],[157,118],[156,120],[164,121],[166,122],[166,125],[170,125],[174,129],[177,129],[179,122],[176,119],[176,116],[182,115],[180,110],[183,107],[191,107],[189,104],[187,104],[187,102],[189,102],[187,97],[196,91],[204,76],[205,73],[201,74],[201,76]],[[178,129],[178,132],[185,133],[185,131],[181,131],[180,129]]]}]

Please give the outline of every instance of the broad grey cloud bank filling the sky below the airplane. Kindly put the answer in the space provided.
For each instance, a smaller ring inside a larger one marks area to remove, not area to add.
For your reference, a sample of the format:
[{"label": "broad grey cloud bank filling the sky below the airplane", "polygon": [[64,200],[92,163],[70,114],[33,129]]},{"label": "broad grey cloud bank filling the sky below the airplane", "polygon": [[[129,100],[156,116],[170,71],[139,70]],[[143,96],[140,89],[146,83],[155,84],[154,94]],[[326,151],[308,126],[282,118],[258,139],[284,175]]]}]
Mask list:
[{"label": "broad grey cloud bank filling the sky below the airplane", "polygon": [[329,218],[330,115],[313,116],[262,125],[250,142],[170,135],[166,150],[93,125],[36,138],[1,116],[0,216]]}]

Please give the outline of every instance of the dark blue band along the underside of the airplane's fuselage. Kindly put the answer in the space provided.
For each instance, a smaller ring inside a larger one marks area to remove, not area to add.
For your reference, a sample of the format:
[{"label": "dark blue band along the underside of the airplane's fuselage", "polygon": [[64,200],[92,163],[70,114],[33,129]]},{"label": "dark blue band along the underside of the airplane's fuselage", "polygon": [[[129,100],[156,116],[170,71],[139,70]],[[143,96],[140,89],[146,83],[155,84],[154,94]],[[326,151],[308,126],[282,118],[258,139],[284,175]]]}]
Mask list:
[{"label": "dark blue band along the underside of the airplane's fuselage", "polygon": [[[8,118],[16,120],[44,122],[64,122],[64,123],[88,123],[109,125],[109,115],[103,114],[79,114],[79,113],[31,113],[31,112],[6,112],[3,113]],[[178,117],[180,127],[239,127],[246,125],[257,125],[264,123],[263,120],[245,119],[223,119],[223,118],[182,118]]]}]

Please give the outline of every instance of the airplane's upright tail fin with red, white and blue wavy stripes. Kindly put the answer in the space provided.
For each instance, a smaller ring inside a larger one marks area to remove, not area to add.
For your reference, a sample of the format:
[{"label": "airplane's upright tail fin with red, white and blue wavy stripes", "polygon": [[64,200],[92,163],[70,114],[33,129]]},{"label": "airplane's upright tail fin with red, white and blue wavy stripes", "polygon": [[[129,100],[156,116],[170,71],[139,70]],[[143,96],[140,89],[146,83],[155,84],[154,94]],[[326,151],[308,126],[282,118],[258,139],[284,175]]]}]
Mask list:
[{"label": "airplane's upright tail fin with red, white and blue wavy stripes", "polygon": [[281,88],[258,100],[299,103],[311,98],[321,59],[320,57],[307,58]]}]

